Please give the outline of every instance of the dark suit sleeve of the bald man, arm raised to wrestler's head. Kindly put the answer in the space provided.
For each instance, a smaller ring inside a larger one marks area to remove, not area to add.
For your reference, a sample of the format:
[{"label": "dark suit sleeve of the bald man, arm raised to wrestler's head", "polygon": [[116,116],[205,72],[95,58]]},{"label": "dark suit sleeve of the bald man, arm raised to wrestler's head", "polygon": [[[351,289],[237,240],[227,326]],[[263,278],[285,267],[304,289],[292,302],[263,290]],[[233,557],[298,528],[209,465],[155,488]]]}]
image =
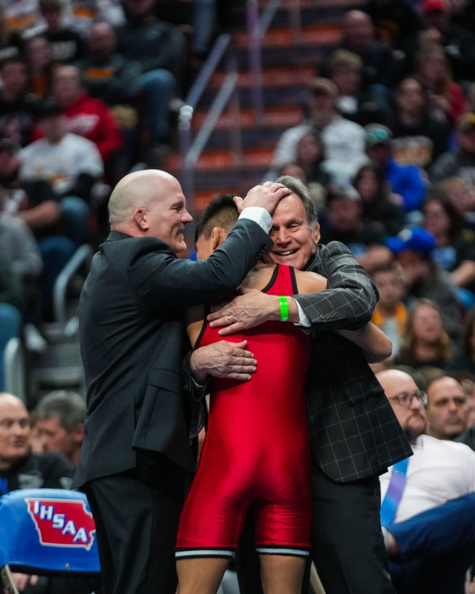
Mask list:
[{"label": "dark suit sleeve of the bald man, arm raised to wrestler's head", "polygon": [[239,286],[271,245],[267,233],[249,219],[239,220],[207,260],[181,260],[163,242],[143,238],[129,262],[129,282],[144,305],[161,311],[216,301]]}]

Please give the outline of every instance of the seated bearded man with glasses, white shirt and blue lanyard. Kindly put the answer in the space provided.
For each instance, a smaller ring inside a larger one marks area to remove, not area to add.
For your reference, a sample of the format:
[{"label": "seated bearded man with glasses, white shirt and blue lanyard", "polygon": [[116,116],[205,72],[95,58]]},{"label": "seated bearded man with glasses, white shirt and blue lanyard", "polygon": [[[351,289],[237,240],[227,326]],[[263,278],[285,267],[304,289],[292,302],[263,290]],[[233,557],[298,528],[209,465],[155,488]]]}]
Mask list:
[{"label": "seated bearded man with glasses, white shirt and blue lanyard", "polygon": [[[413,456],[391,466],[380,477],[381,520],[391,532],[398,523],[432,510],[447,501],[475,491],[475,453],[464,444],[425,435],[427,394],[417,389],[413,378],[398,369],[376,374],[389,403],[411,443]],[[399,485],[396,484],[397,478]],[[388,496],[387,496],[388,494]],[[463,517],[458,522],[463,523]],[[454,522],[457,522],[455,516]],[[440,523],[444,530],[444,523]],[[462,531],[458,539],[464,538]],[[441,535],[442,536],[442,535]],[[440,540],[440,539],[439,539]],[[438,557],[425,551],[420,557],[398,558],[389,564],[392,584],[398,594],[463,594],[465,571],[473,551]]]}]

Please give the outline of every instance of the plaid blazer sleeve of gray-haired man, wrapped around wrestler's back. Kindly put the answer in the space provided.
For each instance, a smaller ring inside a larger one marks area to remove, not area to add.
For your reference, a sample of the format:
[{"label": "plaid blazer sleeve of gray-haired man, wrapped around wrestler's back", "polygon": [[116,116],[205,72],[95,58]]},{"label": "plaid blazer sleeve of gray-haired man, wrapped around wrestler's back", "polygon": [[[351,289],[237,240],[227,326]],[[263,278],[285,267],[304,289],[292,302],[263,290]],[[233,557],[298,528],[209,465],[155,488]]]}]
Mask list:
[{"label": "plaid blazer sleeve of gray-haired man, wrapped around wrestler's back", "polygon": [[337,241],[318,245],[309,270],[328,279],[327,290],[294,295],[313,332],[357,330],[371,320],[378,290],[345,245]]}]

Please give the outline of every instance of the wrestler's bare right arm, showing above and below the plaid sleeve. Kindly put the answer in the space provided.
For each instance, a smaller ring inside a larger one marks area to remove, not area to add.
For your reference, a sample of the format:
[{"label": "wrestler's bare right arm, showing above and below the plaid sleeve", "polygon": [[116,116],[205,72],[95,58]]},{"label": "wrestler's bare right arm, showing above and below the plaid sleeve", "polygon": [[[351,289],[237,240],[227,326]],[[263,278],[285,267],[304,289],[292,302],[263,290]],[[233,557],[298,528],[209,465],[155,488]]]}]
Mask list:
[{"label": "wrestler's bare right arm, showing above and below the plaid sleeve", "polygon": [[[314,272],[296,270],[295,278],[299,295],[327,289],[327,279]],[[359,346],[369,363],[378,363],[391,356],[391,340],[371,322],[359,330],[335,330],[335,332]]]}]

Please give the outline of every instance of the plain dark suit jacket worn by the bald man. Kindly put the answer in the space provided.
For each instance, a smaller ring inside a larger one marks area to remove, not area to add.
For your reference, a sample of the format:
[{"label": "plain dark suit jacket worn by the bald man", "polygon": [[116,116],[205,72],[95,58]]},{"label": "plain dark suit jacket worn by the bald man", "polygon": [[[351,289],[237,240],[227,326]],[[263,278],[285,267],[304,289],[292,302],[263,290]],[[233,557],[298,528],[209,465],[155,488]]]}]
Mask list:
[{"label": "plain dark suit jacket worn by the bald man", "polygon": [[79,305],[88,410],[74,486],[134,468],[137,451],[194,468],[183,309],[229,295],[271,243],[257,223],[240,220],[208,260],[192,262],[159,239],[110,233]]}]

